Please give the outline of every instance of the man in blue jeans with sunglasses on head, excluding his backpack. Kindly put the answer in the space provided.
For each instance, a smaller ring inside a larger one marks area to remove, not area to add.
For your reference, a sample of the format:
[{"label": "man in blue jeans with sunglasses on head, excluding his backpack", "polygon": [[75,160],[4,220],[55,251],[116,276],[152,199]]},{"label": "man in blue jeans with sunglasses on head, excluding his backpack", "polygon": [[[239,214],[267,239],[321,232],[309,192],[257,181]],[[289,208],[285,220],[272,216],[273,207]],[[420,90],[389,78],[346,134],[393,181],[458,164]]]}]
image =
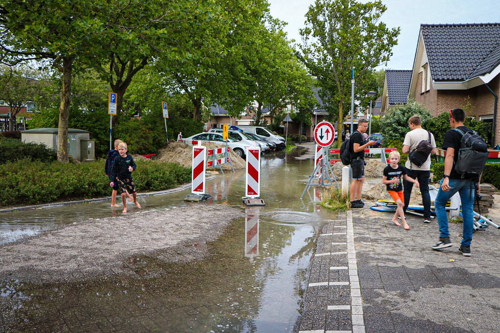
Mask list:
[{"label": "man in blue jeans with sunglasses on head, excluding his backpack", "polygon": [[448,217],[446,215],[446,203],[456,192],[460,195],[463,231],[462,241],[458,251],[465,257],[470,257],[470,243],[472,241],[473,230],[473,204],[474,204],[474,186],[479,192],[480,176],[475,174],[461,174],[455,171],[455,164],[458,160],[458,152],[460,149],[461,134],[454,129],[460,130],[462,133],[471,132],[470,129],[463,125],[465,121],[465,112],[462,109],[449,110],[449,125],[451,130],[448,130],[444,135],[442,149],[446,151],[444,158],[444,175],[441,180],[441,186],[434,201],[437,223],[439,224],[439,242],[432,246],[434,250],[440,250],[452,246],[449,240]]}]

